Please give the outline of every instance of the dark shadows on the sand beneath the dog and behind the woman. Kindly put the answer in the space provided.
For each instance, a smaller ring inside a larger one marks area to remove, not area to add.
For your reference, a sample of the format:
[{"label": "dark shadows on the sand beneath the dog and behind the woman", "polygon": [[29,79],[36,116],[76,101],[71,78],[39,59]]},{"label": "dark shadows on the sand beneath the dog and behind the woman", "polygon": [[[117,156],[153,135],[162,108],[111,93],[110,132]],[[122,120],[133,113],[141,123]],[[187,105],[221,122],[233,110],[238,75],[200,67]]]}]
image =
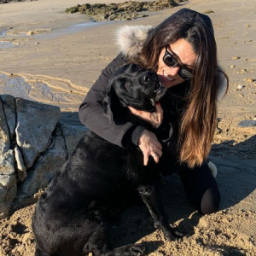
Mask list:
[{"label": "dark shadows on the sand beneath the dog and behind the woman", "polygon": [[[227,146],[228,145],[228,146]],[[231,148],[230,148],[230,145]],[[225,148],[228,154],[222,154],[219,147]],[[225,142],[218,147],[212,147],[210,160],[218,167],[217,183],[221,194],[220,210],[232,207],[244,200],[255,189],[256,180],[256,136],[248,138],[242,143],[233,146],[233,142]],[[246,151],[246,149],[248,151]],[[233,152],[229,154],[229,152]],[[239,152],[243,159],[237,157]],[[222,154],[224,158],[216,156]],[[253,157],[254,156],[254,157]],[[170,224],[178,221],[177,230],[181,230],[186,237],[194,235],[194,227],[199,223],[201,214],[195,212],[195,207],[187,199],[183,185],[177,175],[172,175],[161,184],[161,201],[164,204],[166,215]],[[148,209],[141,205],[133,205],[121,213],[121,218],[111,228],[111,243],[114,247],[134,243],[143,236],[154,232],[154,222]],[[150,241],[147,243],[146,253],[153,253],[164,241]],[[203,244],[202,244],[203,245]],[[207,245],[205,245],[207,247]],[[222,249],[224,255],[245,255],[236,246],[214,246]],[[226,252],[226,253],[225,253]]]}]

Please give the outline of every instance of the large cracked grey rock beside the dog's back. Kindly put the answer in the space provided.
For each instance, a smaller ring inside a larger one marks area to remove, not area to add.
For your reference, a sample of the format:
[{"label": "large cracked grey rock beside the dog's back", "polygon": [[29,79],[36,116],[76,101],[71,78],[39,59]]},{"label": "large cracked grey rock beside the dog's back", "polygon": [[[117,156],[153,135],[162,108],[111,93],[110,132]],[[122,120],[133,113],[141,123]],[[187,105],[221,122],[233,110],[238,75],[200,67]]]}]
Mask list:
[{"label": "large cracked grey rock beside the dog's back", "polygon": [[0,218],[44,189],[87,131],[60,117],[58,107],[0,96]]}]

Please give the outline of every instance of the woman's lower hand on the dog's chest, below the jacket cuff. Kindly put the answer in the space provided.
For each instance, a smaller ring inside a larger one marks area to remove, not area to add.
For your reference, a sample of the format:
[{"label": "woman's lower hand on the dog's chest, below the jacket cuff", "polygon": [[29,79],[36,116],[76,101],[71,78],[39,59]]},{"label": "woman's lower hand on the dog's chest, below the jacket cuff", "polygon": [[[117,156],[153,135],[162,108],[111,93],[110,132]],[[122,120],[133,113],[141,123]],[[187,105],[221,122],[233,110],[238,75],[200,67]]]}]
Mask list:
[{"label": "woman's lower hand on the dog's chest, below the jacket cuff", "polygon": [[156,163],[159,162],[159,158],[162,156],[162,145],[153,132],[144,130],[138,140],[138,146],[143,151],[144,166],[148,165],[149,155],[153,156]]}]

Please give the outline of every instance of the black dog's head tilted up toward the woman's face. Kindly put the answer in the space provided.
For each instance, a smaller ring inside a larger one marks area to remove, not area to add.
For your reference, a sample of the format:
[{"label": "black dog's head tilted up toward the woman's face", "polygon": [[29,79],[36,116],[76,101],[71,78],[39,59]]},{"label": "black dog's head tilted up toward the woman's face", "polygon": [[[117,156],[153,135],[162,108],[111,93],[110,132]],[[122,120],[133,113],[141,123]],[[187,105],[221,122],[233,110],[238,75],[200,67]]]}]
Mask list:
[{"label": "black dog's head tilted up toward the woman's face", "polygon": [[155,111],[156,102],[164,96],[165,87],[156,75],[135,64],[120,67],[110,79],[108,94],[103,102],[104,115],[113,121],[118,108],[132,107],[147,112]]}]

